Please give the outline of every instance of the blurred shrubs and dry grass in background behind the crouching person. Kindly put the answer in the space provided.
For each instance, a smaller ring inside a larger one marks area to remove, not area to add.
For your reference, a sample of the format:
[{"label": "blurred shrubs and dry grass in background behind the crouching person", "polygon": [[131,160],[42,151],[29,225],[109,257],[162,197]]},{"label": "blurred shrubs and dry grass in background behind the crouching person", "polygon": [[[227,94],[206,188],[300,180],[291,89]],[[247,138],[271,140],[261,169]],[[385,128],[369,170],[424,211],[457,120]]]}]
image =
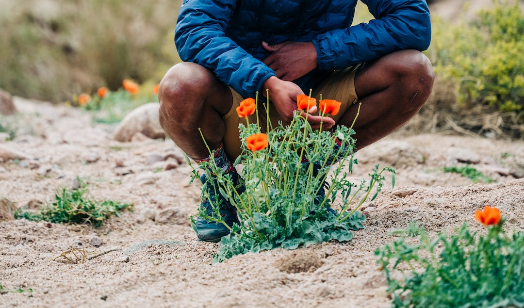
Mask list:
[{"label": "blurred shrubs and dry grass in background behind the crouching person", "polygon": [[[0,88],[61,103],[125,78],[158,83],[180,61],[181,2],[0,0]],[[493,4],[454,22],[432,14],[434,90],[404,131],[524,138],[524,0]],[[369,18],[359,5],[355,21]]]}]

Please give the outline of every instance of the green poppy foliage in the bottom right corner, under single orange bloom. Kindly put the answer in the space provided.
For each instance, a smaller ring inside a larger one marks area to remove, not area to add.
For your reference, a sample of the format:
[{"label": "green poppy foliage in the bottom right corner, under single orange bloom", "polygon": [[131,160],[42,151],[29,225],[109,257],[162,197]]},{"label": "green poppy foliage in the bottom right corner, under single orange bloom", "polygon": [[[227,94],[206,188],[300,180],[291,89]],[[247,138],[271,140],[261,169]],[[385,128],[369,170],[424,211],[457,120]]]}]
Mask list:
[{"label": "green poppy foliage in the bottom right corner, under single orange bloom", "polygon": [[410,229],[419,243],[401,237],[375,251],[395,307],[524,307],[524,233],[506,235],[503,222],[485,236],[466,224],[434,239]]}]

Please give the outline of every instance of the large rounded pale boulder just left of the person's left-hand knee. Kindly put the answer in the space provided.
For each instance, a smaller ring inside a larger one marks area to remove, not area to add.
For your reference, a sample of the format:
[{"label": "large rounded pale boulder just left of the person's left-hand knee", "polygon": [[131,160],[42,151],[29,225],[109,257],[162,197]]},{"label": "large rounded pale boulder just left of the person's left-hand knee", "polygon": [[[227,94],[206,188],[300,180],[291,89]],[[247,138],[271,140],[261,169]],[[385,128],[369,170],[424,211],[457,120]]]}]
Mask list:
[{"label": "large rounded pale boulder just left of the person's left-hand knee", "polygon": [[136,133],[149,138],[165,138],[158,120],[159,103],[149,103],[135,108],[115,128],[113,138],[117,141],[128,142]]}]

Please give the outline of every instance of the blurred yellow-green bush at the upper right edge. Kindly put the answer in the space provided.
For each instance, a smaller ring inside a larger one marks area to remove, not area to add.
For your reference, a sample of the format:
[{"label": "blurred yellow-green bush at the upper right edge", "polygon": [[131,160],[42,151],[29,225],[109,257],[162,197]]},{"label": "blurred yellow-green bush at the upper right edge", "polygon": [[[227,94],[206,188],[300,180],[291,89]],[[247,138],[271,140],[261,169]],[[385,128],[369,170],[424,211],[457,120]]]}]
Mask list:
[{"label": "blurred yellow-green bush at the upper right edge", "polygon": [[462,106],[489,105],[524,120],[524,12],[496,0],[470,23],[434,18],[428,54],[436,73],[455,82]]}]

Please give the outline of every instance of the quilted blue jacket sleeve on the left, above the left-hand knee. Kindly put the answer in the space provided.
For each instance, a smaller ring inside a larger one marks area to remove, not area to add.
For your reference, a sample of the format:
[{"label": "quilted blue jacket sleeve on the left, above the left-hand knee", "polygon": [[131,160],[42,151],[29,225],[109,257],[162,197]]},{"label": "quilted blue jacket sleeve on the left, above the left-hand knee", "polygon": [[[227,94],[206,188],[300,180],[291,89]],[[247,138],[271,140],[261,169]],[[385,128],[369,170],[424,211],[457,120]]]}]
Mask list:
[{"label": "quilted blue jacket sleeve on the left, above the left-hand knee", "polygon": [[225,36],[236,2],[185,0],[174,41],[183,61],[210,69],[243,97],[254,97],[275,72]]}]

